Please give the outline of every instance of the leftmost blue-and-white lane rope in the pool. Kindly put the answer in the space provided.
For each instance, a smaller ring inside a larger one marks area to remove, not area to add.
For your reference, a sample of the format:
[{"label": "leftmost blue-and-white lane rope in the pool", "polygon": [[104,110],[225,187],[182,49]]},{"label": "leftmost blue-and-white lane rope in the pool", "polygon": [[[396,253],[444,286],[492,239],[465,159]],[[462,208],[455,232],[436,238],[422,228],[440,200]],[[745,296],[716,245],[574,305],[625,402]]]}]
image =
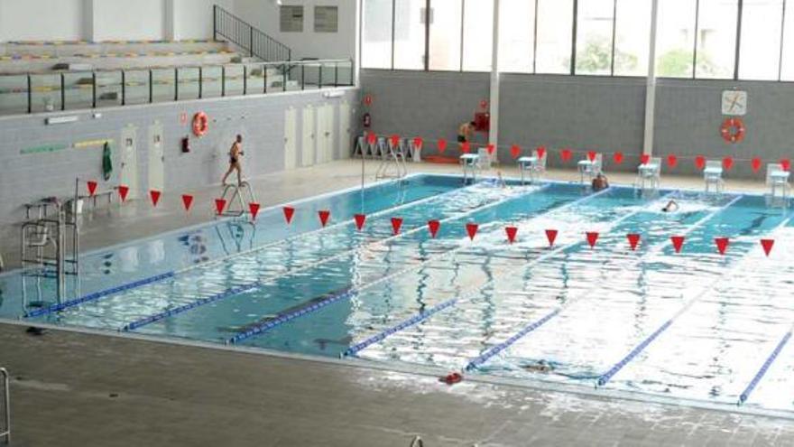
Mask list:
[{"label": "leftmost blue-and-white lane rope in the pool", "polygon": [[[415,200],[415,201],[412,201],[411,203],[405,203],[405,204],[402,204],[402,205],[400,205],[398,207],[390,208],[388,210],[377,211],[377,212],[373,213],[372,216],[380,217],[381,215],[393,212],[394,210],[401,210],[401,209],[404,209],[404,208],[407,208],[407,207],[410,207],[410,206],[420,205],[420,204],[428,202],[430,200],[436,200],[436,199],[439,199],[439,197],[444,197],[447,194],[452,194],[454,192],[465,191],[465,190],[473,188],[475,186],[476,186],[476,184],[467,186],[465,188],[459,188],[459,189],[453,190],[453,191],[447,191],[447,192],[444,192],[443,194],[440,194],[440,195],[430,196],[430,197],[426,197],[424,199]],[[550,183],[549,183],[549,185],[546,185],[546,186],[544,186],[542,188],[546,188],[546,187],[549,187],[549,186],[550,186]],[[542,188],[540,188],[540,189],[542,189]],[[540,191],[540,189],[538,189],[537,191]],[[166,272],[166,273],[161,274],[161,275],[153,275],[153,276],[149,276],[147,278],[143,278],[143,279],[140,279],[140,280],[137,280],[137,281],[133,281],[131,283],[122,284],[122,285],[118,285],[118,286],[115,286],[115,287],[110,287],[108,289],[101,290],[101,291],[98,291],[98,292],[95,292],[95,293],[88,293],[87,295],[81,296],[81,297],[76,298],[74,300],[69,300],[69,301],[64,302],[64,303],[52,304],[51,306],[48,306],[48,307],[45,307],[45,308],[42,308],[42,309],[37,309],[37,310],[32,311],[32,312],[26,312],[23,317],[24,318],[35,318],[35,317],[41,317],[43,315],[50,314],[52,312],[64,311],[66,309],[69,309],[69,308],[72,308],[72,307],[76,307],[76,306],[81,305],[81,304],[90,303],[90,302],[94,302],[94,301],[100,300],[102,298],[105,298],[106,296],[110,296],[110,295],[113,295],[115,293],[127,292],[127,291],[130,291],[132,289],[143,287],[144,285],[159,283],[159,282],[164,281],[166,279],[173,278],[173,277],[175,277],[177,275],[185,274],[185,273],[187,273],[189,271],[192,271],[192,270],[199,270],[199,269],[209,268],[209,267],[212,267],[213,265],[218,265],[218,264],[221,264],[223,262],[226,262],[226,261],[228,261],[229,259],[232,259],[232,258],[253,255],[254,253],[260,252],[260,251],[268,249],[268,248],[276,247],[276,246],[278,246],[280,244],[287,244],[287,243],[292,242],[292,241],[294,241],[294,240],[296,240],[296,239],[298,239],[300,237],[312,236],[312,235],[318,234],[320,232],[330,230],[332,228],[339,228],[339,227],[343,227],[343,226],[349,225],[351,222],[354,222],[354,220],[348,220],[348,221],[339,222],[339,223],[334,224],[334,225],[329,225],[326,228],[317,228],[315,230],[308,231],[308,232],[305,232],[305,233],[300,233],[299,235],[294,235],[294,236],[287,237],[287,238],[284,238],[284,239],[281,239],[281,240],[278,240],[278,241],[274,241],[274,242],[265,244],[265,245],[260,246],[260,247],[255,247],[255,248],[243,251],[243,252],[234,253],[234,254],[227,255],[227,256],[222,256],[222,257],[219,257],[217,259],[214,259],[214,260],[206,262],[206,263],[201,263],[201,264],[198,264],[198,265],[190,265],[188,267],[184,267],[184,268],[181,268],[181,269],[178,269],[178,270],[173,270],[171,272]],[[206,301],[206,300],[207,299],[202,299],[202,300],[199,300],[199,301],[203,302],[203,301]],[[212,303],[212,302],[215,302],[215,301],[218,301],[218,300],[217,299],[211,300],[208,303]],[[187,307],[187,306],[180,306],[180,307]],[[142,320],[145,320],[145,319],[142,319]]]}]

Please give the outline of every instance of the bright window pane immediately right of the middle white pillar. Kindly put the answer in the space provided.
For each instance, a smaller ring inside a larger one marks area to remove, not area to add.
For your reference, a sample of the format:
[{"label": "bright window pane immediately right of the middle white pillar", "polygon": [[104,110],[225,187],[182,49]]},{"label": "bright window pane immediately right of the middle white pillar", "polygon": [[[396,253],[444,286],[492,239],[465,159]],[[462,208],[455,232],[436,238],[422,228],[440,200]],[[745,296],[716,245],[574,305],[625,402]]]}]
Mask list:
[{"label": "bright window pane immediately right of the middle white pillar", "polygon": [[536,1],[502,0],[499,3],[500,71],[532,72]]}]

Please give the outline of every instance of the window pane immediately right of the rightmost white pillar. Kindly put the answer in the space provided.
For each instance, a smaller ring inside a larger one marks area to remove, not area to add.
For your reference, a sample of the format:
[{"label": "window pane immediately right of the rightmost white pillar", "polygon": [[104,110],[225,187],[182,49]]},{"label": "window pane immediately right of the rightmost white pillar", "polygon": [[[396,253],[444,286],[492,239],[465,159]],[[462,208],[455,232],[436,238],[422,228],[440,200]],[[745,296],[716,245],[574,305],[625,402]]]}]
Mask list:
[{"label": "window pane immediately right of the rightmost white pillar", "polygon": [[696,0],[659,2],[656,71],[668,78],[691,78],[695,48]]}]

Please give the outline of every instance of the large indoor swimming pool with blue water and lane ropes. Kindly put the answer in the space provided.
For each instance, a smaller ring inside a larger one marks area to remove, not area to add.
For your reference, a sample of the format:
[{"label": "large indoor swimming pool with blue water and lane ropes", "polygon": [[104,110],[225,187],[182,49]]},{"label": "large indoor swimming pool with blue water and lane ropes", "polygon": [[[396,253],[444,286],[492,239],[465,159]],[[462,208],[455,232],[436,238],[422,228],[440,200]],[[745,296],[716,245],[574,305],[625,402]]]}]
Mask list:
[{"label": "large indoor swimming pool with blue water and lane ropes", "polygon": [[292,206],[88,253],[60,300],[0,275],[0,317],[794,411],[794,222],[764,196],[416,175]]}]

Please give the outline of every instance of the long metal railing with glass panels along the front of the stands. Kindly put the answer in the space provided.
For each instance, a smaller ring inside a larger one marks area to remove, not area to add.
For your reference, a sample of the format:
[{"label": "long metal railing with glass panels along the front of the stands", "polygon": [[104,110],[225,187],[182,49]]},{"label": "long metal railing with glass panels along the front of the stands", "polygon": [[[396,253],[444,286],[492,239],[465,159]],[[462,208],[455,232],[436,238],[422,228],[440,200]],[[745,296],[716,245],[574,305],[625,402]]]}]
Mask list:
[{"label": "long metal railing with glass panels along the front of the stands", "polygon": [[0,75],[0,115],[347,87],[353,76],[351,60]]}]

